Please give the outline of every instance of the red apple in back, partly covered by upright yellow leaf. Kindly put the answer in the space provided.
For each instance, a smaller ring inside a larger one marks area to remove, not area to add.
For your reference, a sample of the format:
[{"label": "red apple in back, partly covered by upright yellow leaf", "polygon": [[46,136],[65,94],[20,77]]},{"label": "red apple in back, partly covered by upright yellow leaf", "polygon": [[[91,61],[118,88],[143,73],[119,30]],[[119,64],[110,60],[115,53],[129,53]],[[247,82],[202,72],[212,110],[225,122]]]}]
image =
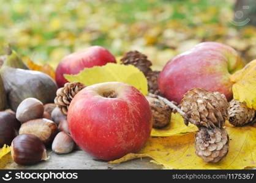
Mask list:
[{"label": "red apple in back, partly covered by upright yellow leaf", "polygon": [[63,87],[67,80],[63,74],[78,74],[84,68],[102,66],[108,62],[116,63],[115,57],[101,46],[91,46],[82,51],[74,52],[64,57],[56,69],[56,82]]}]

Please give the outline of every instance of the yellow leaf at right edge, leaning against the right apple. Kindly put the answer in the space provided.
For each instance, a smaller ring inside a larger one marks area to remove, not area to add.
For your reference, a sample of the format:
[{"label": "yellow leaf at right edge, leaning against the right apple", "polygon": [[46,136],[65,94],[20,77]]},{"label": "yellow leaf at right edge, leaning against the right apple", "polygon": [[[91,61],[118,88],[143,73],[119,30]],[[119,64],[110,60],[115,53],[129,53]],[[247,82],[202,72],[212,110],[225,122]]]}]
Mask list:
[{"label": "yellow leaf at right edge, leaning against the right apple", "polygon": [[245,102],[247,107],[256,110],[256,60],[247,63],[230,77],[235,82],[232,87],[233,98]]}]

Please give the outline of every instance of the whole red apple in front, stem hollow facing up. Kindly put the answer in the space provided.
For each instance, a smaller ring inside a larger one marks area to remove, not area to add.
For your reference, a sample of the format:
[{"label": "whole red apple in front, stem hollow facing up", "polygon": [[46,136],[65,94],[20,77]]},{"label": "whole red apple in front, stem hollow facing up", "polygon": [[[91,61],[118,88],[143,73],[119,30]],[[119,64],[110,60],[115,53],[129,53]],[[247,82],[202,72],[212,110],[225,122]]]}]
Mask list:
[{"label": "whole red apple in front, stem hollow facing up", "polygon": [[67,121],[77,145],[102,160],[137,152],[152,128],[145,96],[122,82],[95,84],[79,91],[70,103]]}]

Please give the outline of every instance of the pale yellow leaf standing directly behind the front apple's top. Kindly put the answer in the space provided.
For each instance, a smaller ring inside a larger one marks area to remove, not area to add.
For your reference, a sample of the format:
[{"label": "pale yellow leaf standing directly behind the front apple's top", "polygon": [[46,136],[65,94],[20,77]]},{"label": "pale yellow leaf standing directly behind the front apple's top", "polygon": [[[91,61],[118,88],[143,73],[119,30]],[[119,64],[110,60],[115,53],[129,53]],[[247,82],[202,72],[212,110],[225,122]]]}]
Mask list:
[{"label": "pale yellow leaf standing directly behind the front apple's top", "polygon": [[111,81],[124,82],[140,90],[143,95],[148,95],[146,77],[133,65],[108,63],[104,66],[85,68],[76,75],[64,74],[64,77],[69,82],[81,82],[86,86]]}]

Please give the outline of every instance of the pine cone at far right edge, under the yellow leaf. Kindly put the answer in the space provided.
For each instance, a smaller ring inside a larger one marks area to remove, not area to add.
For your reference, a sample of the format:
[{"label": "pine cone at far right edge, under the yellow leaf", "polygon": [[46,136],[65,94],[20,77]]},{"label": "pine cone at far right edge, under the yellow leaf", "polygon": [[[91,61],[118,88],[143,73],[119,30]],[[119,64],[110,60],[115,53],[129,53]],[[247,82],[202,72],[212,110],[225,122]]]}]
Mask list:
[{"label": "pine cone at far right edge, under the yellow leaf", "polygon": [[229,122],[234,126],[244,126],[256,121],[256,112],[254,109],[250,109],[242,102],[235,99],[230,101],[230,107],[228,108]]}]

